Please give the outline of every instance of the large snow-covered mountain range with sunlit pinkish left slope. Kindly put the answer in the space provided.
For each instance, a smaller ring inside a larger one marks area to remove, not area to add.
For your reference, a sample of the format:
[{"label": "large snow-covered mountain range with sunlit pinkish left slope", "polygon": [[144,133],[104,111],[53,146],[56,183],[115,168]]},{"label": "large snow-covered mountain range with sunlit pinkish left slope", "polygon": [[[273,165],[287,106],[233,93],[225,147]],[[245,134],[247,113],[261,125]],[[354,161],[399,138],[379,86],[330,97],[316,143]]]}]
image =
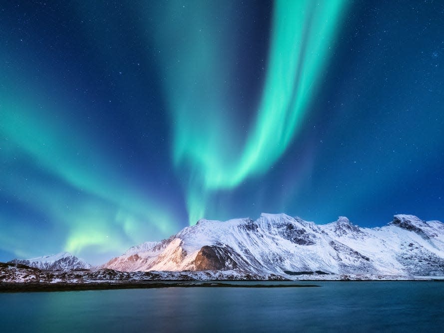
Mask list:
[{"label": "large snow-covered mountain range with sunlit pinkish left slope", "polygon": [[388,225],[373,229],[345,217],[327,225],[285,214],[261,214],[256,221],[200,220],[166,240],[133,247],[102,267],[126,272],[442,276],[444,224],[412,215],[396,215]]}]

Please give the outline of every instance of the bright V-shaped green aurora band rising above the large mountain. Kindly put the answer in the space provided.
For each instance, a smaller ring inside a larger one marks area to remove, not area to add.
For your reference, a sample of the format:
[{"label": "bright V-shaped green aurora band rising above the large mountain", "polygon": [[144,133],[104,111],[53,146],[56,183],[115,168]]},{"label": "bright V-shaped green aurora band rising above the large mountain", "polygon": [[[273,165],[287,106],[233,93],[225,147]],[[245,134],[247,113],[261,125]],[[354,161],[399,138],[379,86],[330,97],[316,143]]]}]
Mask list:
[{"label": "bright V-shaped green aurora band rising above the large mountain", "polygon": [[[157,35],[162,37],[157,43],[174,122],[173,159],[180,173],[189,173],[184,187],[189,222],[194,224],[205,216],[211,192],[235,188],[245,178],[267,172],[296,137],[332,52],[346,1],[275,2],[262,97],[243,146],[237,144],[242,140],[228,111],[233,107],[226,69],[235,40],[226,36],[233,32],[227,23],[209,22],[212,12],[223,16],[224,9],[191,3],[180,11],[180,2],[171,1],[169,10],[159,13],[164,21],[173,16],[174,23],[159,22],[162,33]],[[193,21],[187,19],[191,12]],[[218,35],[212,29],[225,33],[211,38]]]}]

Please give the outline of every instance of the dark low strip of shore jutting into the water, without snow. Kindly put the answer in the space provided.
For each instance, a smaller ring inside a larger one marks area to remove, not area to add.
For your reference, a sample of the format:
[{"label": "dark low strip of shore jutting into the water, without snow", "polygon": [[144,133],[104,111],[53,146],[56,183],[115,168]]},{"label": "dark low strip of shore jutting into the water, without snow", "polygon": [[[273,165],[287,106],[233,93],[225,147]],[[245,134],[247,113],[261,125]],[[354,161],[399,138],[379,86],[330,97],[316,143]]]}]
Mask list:
[{"label": "dark low strip of shore jutting into the water, without snow", "polygon": [[151,289],[151,288],[300,288],[320,287],[318,285],[298,284],[235,284],[228,282],[202,281],[125,281],[125,282],[90,282],[90,283],[1,283],[0,293],[21,292],[68,292],[85,290],[112,289]]}]

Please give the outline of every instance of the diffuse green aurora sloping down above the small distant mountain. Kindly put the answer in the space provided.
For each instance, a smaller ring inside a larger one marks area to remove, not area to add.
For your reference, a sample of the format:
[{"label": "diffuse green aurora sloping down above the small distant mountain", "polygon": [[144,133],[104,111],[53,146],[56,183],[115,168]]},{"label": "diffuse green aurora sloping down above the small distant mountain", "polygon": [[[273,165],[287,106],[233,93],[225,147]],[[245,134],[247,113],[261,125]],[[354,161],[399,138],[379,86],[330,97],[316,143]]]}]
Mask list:
[{"label": "diffuse green aurora sloping down above the small distant mountain", "polygon": [[[67,130],[61,121],[51,118],[57,111],[39,110],[37,117],[31,103],[19,95],[14,97],[2,103],[10,110],[2,115],[0,128],[6,138],[3,162],[18,168],[31,160],[38,170],[62,180],[64,186],[45,183],[41,176],[28,182],[3,174],[3,188],[12,193],[15,188],[25,189],[20,200],[37,210],[45,207],[45,214],[64,224],[68,236],[61,246],[65,251],[79,253],[88,247],[99,253],[124,251],[128,244],[143,241],[141,231],[165,235],[176,230],[177,221],[154,194],[141,200],[146,196],[135,186],[119,181],[121,177],[110,167],[113,163],[103,156],[103,147],[89,143],[93,140],[85,134],[76,135],[79,128],[69,126]],[[16,241],[4,234],[0,241],[4,247],[16,246]]]}]

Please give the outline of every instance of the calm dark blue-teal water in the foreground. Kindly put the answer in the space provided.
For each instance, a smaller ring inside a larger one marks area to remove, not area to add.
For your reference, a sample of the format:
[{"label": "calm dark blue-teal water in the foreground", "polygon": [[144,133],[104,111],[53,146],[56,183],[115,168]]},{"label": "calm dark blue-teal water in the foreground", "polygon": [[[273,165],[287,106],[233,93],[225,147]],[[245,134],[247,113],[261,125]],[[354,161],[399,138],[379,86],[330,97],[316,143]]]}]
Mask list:
[{"label": "calm dark blue-teal water in the foreground", "polygon": [[0,294],[0,331],[444,331],[442,282],[315,284]]}]

